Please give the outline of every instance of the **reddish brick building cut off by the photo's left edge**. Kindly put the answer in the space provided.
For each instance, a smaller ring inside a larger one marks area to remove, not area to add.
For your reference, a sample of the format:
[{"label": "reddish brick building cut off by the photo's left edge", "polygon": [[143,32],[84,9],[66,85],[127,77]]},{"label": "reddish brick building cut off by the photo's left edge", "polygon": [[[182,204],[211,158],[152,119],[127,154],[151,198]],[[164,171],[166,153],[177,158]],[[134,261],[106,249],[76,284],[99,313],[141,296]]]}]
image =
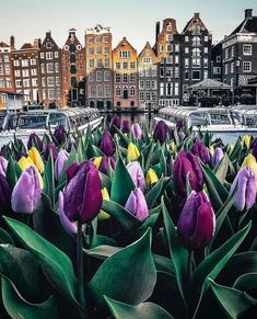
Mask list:
[{"label": "reddish brick building cut off by the photo's left edge", "polygon": [[[13,42],[13,37],[11,37]],[[0,42],[0,90],[7,92],[14,91],[14,79],[12,68],[11,46]],[[0,94],[0,109],[5,109],[5,95]]]}]

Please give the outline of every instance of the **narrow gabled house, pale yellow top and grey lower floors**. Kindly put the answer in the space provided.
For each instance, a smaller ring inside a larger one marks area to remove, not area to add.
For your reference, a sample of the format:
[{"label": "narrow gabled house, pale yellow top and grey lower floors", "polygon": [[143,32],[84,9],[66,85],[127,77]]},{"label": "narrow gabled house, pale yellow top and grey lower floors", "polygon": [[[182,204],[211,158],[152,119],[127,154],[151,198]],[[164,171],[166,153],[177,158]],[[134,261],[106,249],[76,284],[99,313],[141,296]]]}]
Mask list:
[{"label": "narrow gabled house, pale yellow top and grey lower floors", "polygon": [[157,57],[149,42],[138,56],[139,106],[157,109]]}]

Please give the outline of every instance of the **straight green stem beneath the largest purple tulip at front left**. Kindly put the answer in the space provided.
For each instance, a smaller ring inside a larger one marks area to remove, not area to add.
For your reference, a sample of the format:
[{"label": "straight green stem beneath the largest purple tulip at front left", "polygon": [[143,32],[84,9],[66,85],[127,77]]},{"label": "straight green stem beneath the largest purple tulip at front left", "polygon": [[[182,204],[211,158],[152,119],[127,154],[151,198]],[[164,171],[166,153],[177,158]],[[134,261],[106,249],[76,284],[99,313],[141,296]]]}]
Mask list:
[{"label": "straight green stem beneath the largest purple tulip at front left", "polygon": [[[83,233],[82,223],[78,221],[77,233],[77,271],[78,271],[78,298],[81,306],[85,307],[84,297],[84,274],[83,274]],[[81,318],[84,318],[84,314],[81,311]]]}]

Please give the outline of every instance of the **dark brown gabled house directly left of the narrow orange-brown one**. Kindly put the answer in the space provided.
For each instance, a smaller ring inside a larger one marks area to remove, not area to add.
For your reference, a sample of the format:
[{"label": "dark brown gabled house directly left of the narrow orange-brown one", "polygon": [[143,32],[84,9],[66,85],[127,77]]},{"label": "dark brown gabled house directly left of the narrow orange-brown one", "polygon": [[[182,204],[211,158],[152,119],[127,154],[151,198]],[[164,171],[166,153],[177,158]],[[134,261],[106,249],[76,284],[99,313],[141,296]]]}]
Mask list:
[{"label": "dark brown gabled house directly left of the narrow orange-brown one", "polygon": [[43,104],[55,102],[57,106],[62,105],[61,49],[51,37],[50,31],[46,32],[42,43],[39,64]]}]

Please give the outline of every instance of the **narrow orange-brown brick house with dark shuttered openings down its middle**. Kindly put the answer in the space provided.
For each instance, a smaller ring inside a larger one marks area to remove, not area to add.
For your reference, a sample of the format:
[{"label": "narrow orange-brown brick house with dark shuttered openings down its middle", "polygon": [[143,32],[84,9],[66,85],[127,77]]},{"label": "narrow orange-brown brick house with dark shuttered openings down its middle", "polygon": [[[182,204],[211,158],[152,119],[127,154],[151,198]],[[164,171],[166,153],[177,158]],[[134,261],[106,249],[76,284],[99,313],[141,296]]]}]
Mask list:
[{"label": "narrow orange-brown brick house with dark shuttered openings down its middle", "polygon": [[84,105],[84,49],[75,35],[75,29],[69,30],[69,36],[62,48],[62,104],[70,106]]}]

